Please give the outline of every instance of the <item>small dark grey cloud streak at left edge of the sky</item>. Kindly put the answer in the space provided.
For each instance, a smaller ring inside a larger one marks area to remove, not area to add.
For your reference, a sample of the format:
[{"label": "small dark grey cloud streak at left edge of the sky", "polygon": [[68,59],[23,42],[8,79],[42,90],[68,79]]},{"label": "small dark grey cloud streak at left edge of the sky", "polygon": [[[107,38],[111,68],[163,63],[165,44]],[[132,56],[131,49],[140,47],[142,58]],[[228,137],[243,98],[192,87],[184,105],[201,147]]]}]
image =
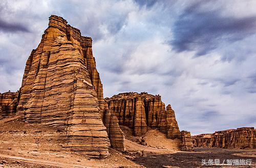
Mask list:
[{"label": "small dark grey cloud streak at left edge of the sky", "polygon": [[30,32],[30,30],[20,23],[9,23],[0,18],[0,31],[2,32]]}]

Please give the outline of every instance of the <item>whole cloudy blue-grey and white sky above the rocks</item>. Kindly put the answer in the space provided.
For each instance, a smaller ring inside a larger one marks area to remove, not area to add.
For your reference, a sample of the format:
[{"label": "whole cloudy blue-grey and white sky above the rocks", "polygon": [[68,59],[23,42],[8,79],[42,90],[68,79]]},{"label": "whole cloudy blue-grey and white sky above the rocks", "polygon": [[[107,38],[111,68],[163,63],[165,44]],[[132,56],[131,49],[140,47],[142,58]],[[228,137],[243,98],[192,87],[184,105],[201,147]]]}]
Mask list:
[{"label": "whole cloudy blue-grey and white sky above the rocks", "polygon": [[51,14],[93,38],[104,96],[146,91],[181,130],[256,127],[255,1],[1,1],[0,92],[19,89]]}]

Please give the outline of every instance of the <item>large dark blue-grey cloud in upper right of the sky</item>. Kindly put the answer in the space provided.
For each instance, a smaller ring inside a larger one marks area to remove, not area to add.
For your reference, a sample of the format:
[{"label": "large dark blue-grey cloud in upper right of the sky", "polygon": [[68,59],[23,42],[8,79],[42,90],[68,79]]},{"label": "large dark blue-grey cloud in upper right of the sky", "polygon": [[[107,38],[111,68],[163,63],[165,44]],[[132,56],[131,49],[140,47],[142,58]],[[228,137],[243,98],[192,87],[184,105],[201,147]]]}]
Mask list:
[{"label": "large dark blue-grey cloud in upper right of the sky", "polygon": [[188,6],[175,21],[174,39],[169,41],[175,51],[197,51],[196,56],[202,56],[222,42],[242,40],[256,32],[256,16],[223,16],[221,9],[202,10],[205,3]]}]

